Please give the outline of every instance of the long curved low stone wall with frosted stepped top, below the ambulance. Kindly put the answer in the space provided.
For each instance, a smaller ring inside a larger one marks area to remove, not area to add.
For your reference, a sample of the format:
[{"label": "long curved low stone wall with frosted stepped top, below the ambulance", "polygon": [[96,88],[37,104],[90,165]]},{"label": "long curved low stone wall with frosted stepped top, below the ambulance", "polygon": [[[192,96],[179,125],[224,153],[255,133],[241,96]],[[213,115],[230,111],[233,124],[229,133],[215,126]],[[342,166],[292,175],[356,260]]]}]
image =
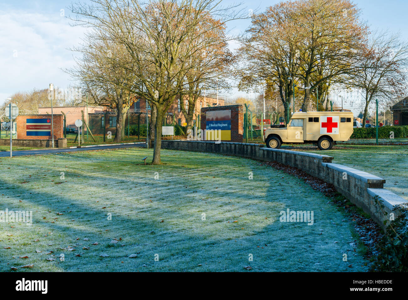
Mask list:
[{"label": "long curved low stone wall with frosted stepped top, below the ambulance", "polygon": [[255,160],[276,161],[296,167],[324,182],[333,184],[339,193],[368,213],[383,229],[386,229],[390,222],[390,213],[394,213],[395,218],[397,218],[400,214],[397,206],[408,204],[404,198],[383,188],[385,179],[341,164],[335,164],[332,162],[332,156],[270,149],[265,148],[262,144],[232,142],[162,140],[162,148],[242,156]]}]

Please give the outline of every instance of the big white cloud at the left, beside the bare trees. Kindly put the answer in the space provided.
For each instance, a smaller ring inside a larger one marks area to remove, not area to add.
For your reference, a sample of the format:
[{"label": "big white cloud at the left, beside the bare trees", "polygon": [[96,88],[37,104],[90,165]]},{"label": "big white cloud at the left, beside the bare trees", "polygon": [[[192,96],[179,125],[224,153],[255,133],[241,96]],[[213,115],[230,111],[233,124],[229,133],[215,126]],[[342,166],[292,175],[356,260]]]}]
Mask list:
[{"label": "big white cloud at the left, beside the bare trees", "polygon": [[[47,88],[50,82],[65,87],[73,53],[84,29],[71,27],[59,14],[0,10],[0,104],[17,91]],[[7,95],[7,96],[4,96]]]}]

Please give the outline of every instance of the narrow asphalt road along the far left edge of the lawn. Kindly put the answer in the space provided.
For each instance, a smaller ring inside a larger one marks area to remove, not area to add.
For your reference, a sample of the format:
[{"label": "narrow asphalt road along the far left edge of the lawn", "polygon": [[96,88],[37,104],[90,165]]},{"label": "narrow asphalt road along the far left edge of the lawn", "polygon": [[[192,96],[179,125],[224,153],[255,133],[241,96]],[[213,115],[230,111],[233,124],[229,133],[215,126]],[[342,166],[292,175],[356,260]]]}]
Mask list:
[{"label": "narrow asphalt road along the far left edge of the lawn", "polygon": [[[89,150],[104,150],[104,149],[119,149],[119,148],[133,148],[133,147],[144,147],[145,143],[141,144],[131,144],[131,145],[108,145],[108,146],[95,146],[95,147],[81,147],[81,148],[54,148],[54,149],[41,149],[41,150],[20,150],[13,151],[13,156],[24,156],[24,155],[41,155],[41,154],[53,154],[62,152],[75,152],[75,151],[89,151]],[[10,151],[1,151],[0,157],[10,157]]]}]

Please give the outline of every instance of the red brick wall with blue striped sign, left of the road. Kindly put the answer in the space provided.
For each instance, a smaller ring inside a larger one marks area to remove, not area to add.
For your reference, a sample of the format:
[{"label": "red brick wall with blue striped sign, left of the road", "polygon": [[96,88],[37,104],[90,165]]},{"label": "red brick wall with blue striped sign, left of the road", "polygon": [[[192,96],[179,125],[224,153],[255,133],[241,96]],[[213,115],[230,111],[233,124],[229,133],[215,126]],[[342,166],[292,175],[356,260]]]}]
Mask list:
[{"label": "red brick wall with blue striped sign, left of the road", "polygon": [[[64,137],[64,116],[54,115],[54,140]],[[51,140],[51,115],[17,116],[17,138]]]}]

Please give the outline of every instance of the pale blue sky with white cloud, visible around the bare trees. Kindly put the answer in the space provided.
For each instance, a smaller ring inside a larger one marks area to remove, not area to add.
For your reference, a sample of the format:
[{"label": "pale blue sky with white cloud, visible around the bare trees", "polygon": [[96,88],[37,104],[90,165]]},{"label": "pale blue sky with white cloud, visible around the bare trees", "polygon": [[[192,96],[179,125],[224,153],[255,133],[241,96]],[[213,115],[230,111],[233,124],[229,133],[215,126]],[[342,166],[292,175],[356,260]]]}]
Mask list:
[{"label": "pale blue sky with white cloud, visible around the bare trees", "polygon": [[[82,0],[80,2],[89,2]],[[245,10],[262,12],[278,3],[242,1]],[[406,0],[358,0],[362,18],[372,29],[399,31],[408,40]],[[235,1],[224,0],[227,6]],[[69,48],[81,42],[84,29],[73,27],[67,16],[71,0],[0,0],[0,105],[18,91],[48,88],[49,83],[68,88],[70,76],[63,70],[75,64]],[[250,20],[229,24],[232,32],[243,32]],[[243,96],[236,89],[228,97]]]}]

